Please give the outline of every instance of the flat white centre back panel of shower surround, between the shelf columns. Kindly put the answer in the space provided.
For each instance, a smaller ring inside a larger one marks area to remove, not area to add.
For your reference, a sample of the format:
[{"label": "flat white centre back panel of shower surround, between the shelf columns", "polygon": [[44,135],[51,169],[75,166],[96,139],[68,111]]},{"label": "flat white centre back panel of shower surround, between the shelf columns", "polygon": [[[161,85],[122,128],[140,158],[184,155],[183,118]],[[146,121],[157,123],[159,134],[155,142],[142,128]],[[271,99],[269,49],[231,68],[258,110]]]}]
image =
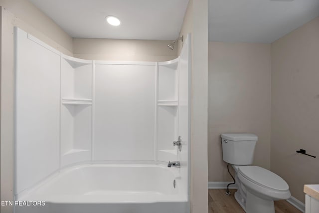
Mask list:
[{"label": "flat white centre back panel of shower surround, between the shelf columns", "polygon": [[155,70],[95,65],[93,160],[154,160]]}]

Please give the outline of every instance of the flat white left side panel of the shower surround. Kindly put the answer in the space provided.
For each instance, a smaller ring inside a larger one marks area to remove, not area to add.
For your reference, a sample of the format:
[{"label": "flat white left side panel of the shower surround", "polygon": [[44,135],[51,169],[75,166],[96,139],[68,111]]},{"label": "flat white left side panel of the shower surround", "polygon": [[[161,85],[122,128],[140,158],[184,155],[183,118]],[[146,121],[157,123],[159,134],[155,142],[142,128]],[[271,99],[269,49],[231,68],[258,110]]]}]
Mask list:
[{"label": "flat white left side panel of the shower surround", "polygon": [[15,30],[17,194],[59,169],[60,53]]}]

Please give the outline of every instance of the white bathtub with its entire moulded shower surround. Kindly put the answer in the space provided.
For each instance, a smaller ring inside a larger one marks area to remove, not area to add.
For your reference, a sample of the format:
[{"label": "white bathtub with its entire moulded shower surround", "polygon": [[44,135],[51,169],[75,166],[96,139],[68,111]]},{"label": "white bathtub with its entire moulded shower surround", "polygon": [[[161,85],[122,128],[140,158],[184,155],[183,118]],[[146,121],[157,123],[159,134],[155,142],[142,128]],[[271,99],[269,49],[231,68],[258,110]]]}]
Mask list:
[{"label": "white bathtub with its entire moulded shower surround", "polygon": [[15,29],[14,199],[45,202],[15,213],[189,213],[184,40],[171,61],[94,61]]}]

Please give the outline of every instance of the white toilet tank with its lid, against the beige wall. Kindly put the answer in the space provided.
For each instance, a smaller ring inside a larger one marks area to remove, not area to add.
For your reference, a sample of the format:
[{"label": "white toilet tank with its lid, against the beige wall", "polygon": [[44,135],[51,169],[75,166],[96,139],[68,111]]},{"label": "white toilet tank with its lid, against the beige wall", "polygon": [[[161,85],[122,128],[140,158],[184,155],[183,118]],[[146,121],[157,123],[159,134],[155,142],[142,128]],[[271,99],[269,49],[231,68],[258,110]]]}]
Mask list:
[{"label": "white toilet tank with its lid, against the beige wall", "polygon": [[221,134],[223,160],[234,165],[251,165],[254,160],[257,135],[246,133]]}]

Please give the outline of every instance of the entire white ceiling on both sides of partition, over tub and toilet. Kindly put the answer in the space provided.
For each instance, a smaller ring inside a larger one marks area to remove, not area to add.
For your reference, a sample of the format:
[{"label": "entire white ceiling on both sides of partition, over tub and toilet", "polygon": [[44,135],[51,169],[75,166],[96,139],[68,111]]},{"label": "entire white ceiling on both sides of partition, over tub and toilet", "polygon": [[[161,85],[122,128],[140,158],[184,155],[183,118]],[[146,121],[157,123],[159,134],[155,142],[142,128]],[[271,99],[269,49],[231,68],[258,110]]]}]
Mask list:
[{"label": "entire white ceiling on both sides of partition, over tub and toilet", "polygon": [[[77,38],[174,40],[188,0],[30,0]],[[105,16],[122,21],[111,26]],[[208,40],[271,43],[319,15],[319,0],[208,0]]]}]

